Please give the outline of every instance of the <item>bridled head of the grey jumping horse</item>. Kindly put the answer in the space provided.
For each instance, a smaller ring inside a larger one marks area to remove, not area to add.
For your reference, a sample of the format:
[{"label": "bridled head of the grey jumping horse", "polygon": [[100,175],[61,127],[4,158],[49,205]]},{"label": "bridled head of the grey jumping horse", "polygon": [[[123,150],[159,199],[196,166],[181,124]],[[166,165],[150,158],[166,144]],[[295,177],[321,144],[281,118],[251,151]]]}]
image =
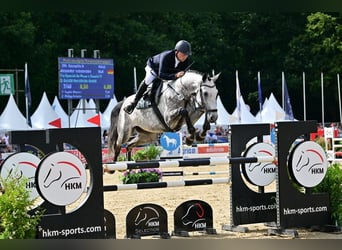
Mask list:
[{"label": "bridled head of the grey jumping horse", "polygon": [[196,93],[196,103],[199,109],[202,109],[206,114],[208,122],[215,122],[217,120],[217,95],[215,81],[220,76],[220,73],[212,77],[204,74],[200,83],[199,89]]}]

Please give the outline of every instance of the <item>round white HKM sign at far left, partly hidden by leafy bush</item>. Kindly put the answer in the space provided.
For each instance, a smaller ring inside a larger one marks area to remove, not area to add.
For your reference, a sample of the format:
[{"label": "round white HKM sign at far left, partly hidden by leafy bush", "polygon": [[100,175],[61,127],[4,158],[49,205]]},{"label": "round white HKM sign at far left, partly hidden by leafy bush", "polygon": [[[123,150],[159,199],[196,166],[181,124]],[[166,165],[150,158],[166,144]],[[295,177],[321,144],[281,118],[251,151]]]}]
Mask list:
[{"label": "round white HKM sign at far left, partly hidden by leafy bush", "polygon": [[1,178],[6,179],[11,176],[20,179],[27,178],[26,189],[30,191],[32,200],[39,197],[35,184],[35,174],[40,159],[33,154],[27,152],[14,153],[8,156],[1,164]]}]

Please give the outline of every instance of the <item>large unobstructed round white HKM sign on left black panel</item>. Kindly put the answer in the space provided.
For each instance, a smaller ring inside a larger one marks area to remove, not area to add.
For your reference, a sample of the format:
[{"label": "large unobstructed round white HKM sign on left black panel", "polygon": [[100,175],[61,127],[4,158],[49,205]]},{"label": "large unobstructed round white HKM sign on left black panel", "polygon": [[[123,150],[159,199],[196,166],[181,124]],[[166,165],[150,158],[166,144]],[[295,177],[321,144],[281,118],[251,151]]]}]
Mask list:
[{"label": "large unobstructed round white HKM sign on left black panel", "polygon": [[36,182],[45,200],[58,206],[69,205],[77,201],[86,188],[85,166],[71,153],[52,153],[40,162]]}]

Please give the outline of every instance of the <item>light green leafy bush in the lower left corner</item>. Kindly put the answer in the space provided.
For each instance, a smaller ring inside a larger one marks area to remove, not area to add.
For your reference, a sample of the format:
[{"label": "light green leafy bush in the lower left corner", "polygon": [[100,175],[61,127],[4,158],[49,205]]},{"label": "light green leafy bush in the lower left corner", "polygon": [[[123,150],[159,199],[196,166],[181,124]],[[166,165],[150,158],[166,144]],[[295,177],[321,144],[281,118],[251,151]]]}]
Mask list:
[{"label": "light green leafy bush in the lower left corner", "polygon": [[26,189],[27,178],[0,178],[0,239],[34,239],[42,211],[29,214],[34,200]]}]

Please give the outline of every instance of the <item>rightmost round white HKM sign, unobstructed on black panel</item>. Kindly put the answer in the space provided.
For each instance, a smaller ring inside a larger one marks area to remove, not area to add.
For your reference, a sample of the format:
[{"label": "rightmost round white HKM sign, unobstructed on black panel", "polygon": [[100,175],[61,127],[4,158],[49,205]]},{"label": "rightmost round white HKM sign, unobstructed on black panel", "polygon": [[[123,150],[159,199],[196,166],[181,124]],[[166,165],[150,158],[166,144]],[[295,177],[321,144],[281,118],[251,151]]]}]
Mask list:
[{"label": "rightmost round white HKM sign, unobstructed on black panel", "polygon": [[314,187],[324,178],[328,160],[323,148],[316,142],[304,141],[291,151],[289,169],[291,176],[304,187]]}]

